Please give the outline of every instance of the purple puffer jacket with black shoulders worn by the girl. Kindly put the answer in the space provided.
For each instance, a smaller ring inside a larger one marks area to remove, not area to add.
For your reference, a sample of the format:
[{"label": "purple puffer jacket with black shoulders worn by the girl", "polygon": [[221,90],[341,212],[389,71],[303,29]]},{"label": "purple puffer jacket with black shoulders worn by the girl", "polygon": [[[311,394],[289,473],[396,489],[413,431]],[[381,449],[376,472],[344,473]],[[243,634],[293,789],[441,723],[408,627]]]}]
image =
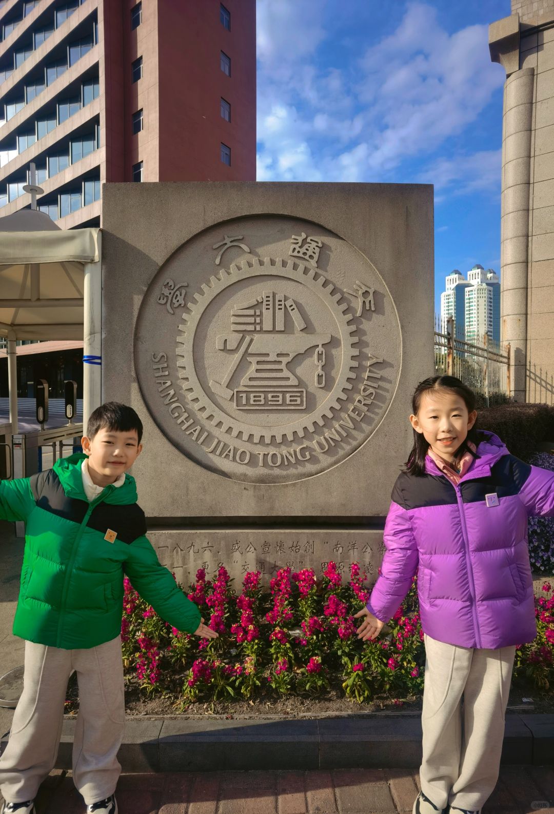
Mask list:
[{"label": "purple puffer jacket with black shoulders worn by the girl", "polygon": [[479,457],[456,487],[429,456],[425,475],[399,475],[367,607],[387,622],[417,571],[425,633],[497,648],[536,636],[527,518],[554,514],[554,472],[510,455],[490,432],[481,438]]}]

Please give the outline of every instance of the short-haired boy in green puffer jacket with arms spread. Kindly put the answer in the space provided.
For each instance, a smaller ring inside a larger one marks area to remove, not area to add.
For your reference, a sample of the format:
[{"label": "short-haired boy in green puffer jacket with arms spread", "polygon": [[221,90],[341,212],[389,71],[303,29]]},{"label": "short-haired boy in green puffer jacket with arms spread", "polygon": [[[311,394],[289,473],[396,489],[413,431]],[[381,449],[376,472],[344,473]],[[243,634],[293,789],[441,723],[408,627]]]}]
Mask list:
[{"label": "short-haired boy in green puffer jacket with arms spread", "polygon": [[116,759],[125,725],[123,578],[175,628],[216,638],[146,539],[135,481],[142,422],[114,401],[98,407],[81,440],[85,455],[0,483],[0,519],[24,520],[25,549],[13,632],[25,639],[24,690],[0,759],[4,812],[36,814],[33,800],[54,768],[68,678],[80,707],[73,781],[87,812],[117,814]]}]

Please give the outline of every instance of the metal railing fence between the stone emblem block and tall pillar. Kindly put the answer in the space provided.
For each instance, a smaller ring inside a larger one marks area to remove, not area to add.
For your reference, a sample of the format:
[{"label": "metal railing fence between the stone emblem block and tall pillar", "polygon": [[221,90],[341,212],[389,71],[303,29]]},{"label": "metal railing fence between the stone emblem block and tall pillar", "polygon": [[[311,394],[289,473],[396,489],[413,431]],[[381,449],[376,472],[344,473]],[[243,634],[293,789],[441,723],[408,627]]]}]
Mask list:
[{"label": "metal railing fence between the stone emblem block and tall pillar", "polygon": [[510,393],[510,346],[486,334],[466,335],[450,317],[435,317],[434,367],[471,387],[481,406],[505,404]]}]

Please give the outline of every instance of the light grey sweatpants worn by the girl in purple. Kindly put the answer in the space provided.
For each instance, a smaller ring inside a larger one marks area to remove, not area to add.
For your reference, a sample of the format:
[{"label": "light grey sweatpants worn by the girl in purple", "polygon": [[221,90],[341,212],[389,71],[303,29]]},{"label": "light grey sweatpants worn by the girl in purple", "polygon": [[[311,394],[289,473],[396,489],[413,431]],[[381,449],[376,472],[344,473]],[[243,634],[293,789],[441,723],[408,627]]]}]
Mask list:
[{"label": "light grey sweatpants worn by the girl in purple", "polygon": [[498,780],[516,648],[473,650],[425,635],[425,653],[421,790],[439,809],[480,811]]}]

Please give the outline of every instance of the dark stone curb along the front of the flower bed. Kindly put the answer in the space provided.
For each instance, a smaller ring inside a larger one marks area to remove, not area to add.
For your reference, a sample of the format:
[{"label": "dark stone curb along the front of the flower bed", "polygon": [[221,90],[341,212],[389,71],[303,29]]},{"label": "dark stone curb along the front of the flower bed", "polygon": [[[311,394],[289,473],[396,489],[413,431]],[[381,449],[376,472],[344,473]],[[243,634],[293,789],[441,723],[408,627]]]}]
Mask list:
[{"label": "dark stone curb along the front of the flower bed", "polygon": [[[72,765],[76,719],[66,716],[57,769]],[[7,737],[2,737],[5,746]],[[419,718],[179,720],[128,716],[118,753],[123,772],[353,768],[417,769]],[[552,766],[554,714],[506,717],[501,763]]]}]

